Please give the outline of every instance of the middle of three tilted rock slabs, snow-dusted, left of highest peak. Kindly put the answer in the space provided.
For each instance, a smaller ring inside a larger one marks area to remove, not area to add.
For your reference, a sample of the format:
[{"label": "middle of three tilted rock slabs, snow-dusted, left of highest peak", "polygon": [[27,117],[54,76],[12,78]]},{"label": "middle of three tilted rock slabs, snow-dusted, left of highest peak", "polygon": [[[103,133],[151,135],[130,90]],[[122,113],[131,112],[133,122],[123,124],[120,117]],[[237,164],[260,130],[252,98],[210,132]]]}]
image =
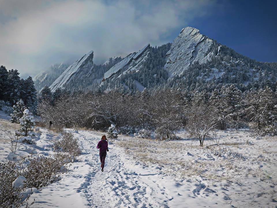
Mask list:
[{"label": "middle of three tilted rock slabs, snow-dusted, left of highest peak", "polygon": [[120,77],[122,74],[130,71],[137,71],[142,67],[143,62],[147,59],[150,44],[147,44],[139,52],[130,53],[119,63],[115,64],[104,74],[104,79]]}]

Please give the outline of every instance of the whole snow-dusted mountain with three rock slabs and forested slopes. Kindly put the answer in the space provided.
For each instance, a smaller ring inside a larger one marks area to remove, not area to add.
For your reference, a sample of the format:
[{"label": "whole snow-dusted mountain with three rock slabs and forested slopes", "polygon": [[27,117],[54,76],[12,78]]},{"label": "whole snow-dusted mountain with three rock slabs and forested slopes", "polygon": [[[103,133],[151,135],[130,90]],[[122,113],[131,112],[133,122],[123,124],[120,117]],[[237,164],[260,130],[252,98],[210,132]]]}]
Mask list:
[{"label": "whole snow-dusted mountain with three rock slabs and forested slopes", "polygon": [[[263,63],[241,55],[193,27],[181,30],[173,43],[159,47],[147,44],[125,58],[110,58],[102,65],[93,64],[93,52],[69,66],[50,86],[68,90],[127,91],[183,86],[201,90],[222,83],[244,84],[276,81],[275,63]],[[45,74],[38,75],[44,80]],[[43,87],[43,86],[42,86]],[[251,87],[251,86],[250,86]],[[256,87],[257,83],[256,83]]]}]

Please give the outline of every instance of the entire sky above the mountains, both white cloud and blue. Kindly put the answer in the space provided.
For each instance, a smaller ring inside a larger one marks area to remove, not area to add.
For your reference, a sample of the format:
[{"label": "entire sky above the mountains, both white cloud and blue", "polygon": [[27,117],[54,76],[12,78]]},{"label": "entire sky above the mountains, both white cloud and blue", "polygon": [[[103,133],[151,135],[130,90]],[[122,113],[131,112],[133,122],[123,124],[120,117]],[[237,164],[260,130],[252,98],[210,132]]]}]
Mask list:
[{"label": "entire sky above the mountains, both white cloud and blue", "polygon": [[277,62],[276,1],[0,0],[0,65],[35,75],[172,42],[186,26],[258,61]]}]

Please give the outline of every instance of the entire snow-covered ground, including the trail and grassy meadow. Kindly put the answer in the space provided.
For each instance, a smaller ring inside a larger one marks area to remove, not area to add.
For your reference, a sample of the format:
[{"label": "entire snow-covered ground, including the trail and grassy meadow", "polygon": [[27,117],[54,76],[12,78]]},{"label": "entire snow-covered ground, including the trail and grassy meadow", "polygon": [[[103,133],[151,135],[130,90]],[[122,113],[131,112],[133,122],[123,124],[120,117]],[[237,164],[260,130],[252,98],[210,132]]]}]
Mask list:
[{"label": "entire snow-covered ground, including the trail and grassy meadow", "polygon": [[[0,133],[8,121],[0,120]],[[11,129],[12,130],[12,129]],[[72,131],[68,129],[68,131]],[[96,145],[102,133],[79,131],[83,153],[60,181],[31,195],[32,207],[276,207],[276,137],[250,138],[248,130],[220,131],[216,146],[186,138],[161,142],[119,135],[109,142],[104,172]],[[8,138],[1,134],[0,159]],[[40,128],[36,144],[20,144],[18,158],[52,154],[59,135]],[[248,142],[247,142],[248,140]]]}]

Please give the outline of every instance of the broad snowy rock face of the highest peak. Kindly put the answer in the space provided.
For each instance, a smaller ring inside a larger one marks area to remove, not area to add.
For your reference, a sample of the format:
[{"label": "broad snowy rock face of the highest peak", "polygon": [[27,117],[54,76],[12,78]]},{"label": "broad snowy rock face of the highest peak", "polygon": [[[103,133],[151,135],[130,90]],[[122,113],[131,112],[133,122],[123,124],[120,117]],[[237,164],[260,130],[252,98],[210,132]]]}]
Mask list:
[{"label": "broad snowy rock face of the highest peak", "polygon": [[213,43],[213,40],[200,34],[196,28],[182,29],[166,54],[167,62],[164,69],[168,71],[169,79],[184,75],[194,62],[203,64],[210,60],[213,55]]}]

